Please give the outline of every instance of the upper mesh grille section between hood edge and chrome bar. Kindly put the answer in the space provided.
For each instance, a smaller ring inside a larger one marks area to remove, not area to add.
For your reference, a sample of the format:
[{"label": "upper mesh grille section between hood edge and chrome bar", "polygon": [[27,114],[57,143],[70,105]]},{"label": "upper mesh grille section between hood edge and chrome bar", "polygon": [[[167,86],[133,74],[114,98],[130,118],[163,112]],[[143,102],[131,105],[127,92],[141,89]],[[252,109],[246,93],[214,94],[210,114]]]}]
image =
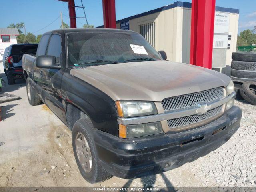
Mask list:
[{"label": "upper mesh grille section between hood edge and chrome bar", "polygon": [[193,94],[167,98],[162,100],[162,106],[164,108],[164,111],[166,112],[169,110],[196,106],[197,103],[210,102],[218,98],[222,98],[223,96],[224,89],[219,87]]}]

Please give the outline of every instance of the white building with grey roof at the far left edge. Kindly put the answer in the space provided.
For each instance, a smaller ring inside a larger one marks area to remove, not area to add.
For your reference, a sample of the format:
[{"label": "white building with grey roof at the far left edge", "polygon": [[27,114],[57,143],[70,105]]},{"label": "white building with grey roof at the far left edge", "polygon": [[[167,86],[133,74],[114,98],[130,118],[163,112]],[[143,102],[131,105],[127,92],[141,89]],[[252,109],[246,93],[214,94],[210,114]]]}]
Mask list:
[{"label": "white building with grey roof at the far left edge", "polygon": [[17,36],[19,31],[16,28],[0,28],[0,73],[3,73],[3,56],[6,47],[17,44]]}]

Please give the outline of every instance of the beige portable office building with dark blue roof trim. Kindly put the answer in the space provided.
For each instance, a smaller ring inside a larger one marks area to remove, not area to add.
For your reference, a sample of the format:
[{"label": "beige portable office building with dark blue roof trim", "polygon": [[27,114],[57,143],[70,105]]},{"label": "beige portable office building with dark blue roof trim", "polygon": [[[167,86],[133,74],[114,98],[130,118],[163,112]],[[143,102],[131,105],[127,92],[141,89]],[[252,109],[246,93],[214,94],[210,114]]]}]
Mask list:
[{"label": "beige portable office building with dark blue roof trim", "polygon": [[[236,51],[238,18],[238,9],[216,7],[212,68],[231,64],[232,52]],[[140,33],[156,50],[164,50],[168,60],[190,61],[191,3],[174,2],[124,18],[116,21],[116,28]]]}]

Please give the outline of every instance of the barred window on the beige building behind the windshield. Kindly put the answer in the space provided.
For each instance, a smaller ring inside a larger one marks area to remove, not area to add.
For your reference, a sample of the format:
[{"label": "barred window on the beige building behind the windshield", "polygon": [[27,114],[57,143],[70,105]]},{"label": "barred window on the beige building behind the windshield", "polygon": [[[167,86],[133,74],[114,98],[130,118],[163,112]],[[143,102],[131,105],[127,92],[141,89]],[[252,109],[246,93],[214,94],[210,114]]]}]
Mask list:
[{"label": "barred window on the beige building behind the windshield", "polygon": [[139,25],[140,34],[155,47],[156,25],[155,22]]}]

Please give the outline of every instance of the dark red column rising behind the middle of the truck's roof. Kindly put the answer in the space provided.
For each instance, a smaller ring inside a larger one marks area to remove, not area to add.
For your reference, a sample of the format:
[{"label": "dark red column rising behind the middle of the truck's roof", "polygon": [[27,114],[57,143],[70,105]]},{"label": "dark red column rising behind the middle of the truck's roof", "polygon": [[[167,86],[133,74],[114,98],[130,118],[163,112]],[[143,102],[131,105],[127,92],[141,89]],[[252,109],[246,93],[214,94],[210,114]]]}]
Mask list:
[{"label": "dark red column rising behind the middle of the truck's roof", "polygon": [[116,28],[115,0],[102,0],[104,28]]}]

